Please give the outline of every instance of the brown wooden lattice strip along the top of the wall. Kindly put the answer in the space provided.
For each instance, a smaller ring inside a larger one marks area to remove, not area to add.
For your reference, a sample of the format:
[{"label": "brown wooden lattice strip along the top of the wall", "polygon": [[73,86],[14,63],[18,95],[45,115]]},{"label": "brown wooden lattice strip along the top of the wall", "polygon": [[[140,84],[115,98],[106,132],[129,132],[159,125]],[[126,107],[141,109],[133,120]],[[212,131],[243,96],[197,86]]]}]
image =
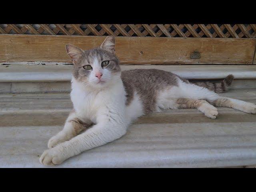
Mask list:
[{"label": "brown wooden lattice strip along the top of the wall", "polygon": [[256,38],[256,24],[0,24],[0,34]]}]

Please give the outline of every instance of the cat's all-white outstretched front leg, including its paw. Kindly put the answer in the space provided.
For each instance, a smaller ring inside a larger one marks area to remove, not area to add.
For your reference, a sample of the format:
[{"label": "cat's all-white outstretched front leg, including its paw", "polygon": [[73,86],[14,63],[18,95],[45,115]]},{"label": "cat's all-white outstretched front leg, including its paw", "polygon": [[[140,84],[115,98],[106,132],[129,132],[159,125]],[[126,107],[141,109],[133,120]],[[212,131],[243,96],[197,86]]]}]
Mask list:
[{"label": "cat's all-white outstretched front leg, including its paw", "polygon": [[100,122],[71,140],[45,150],[40,157],[40,162],[44,165],[60,164],[85,150],[112,142],[125,133],[126,126],[120,122]]}]

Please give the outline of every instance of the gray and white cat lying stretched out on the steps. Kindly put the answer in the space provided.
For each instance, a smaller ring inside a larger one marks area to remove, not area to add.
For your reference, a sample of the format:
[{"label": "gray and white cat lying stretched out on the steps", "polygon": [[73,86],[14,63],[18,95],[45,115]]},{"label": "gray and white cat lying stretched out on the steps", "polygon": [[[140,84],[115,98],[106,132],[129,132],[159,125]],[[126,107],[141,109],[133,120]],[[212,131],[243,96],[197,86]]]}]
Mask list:
[{"label": "gray and white cat lying stretched out on the steps", "polygon": [[82,50],[66,45],[74,68],[74,109],[64,128],[48,141],[40,156],[44,165],[56,165],[85,150],[112,142],[126,133],[139,116],[163,109],[196,108],[215,119],[223,106],[255,114],[256,105],[218,96],[231,85],[233,76],[219,83],[195,82],[157,69],[122,71],[115,55],[115,37],[108,36],[99,48]]}]

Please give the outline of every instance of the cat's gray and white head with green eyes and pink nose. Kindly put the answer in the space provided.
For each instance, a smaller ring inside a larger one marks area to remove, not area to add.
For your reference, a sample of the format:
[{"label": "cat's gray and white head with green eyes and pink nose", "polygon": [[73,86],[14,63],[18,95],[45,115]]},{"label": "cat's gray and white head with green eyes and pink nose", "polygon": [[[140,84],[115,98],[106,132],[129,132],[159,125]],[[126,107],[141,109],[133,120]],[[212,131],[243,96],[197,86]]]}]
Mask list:
[{"label": "cat's gray and white head with green eyes and pink nose", "polygon": [[68,44],[66,51],[74,64],[73,76],[83,86],[104,88],[120,77],[114,36],[108,36],[99,48],[82,50]]}]

